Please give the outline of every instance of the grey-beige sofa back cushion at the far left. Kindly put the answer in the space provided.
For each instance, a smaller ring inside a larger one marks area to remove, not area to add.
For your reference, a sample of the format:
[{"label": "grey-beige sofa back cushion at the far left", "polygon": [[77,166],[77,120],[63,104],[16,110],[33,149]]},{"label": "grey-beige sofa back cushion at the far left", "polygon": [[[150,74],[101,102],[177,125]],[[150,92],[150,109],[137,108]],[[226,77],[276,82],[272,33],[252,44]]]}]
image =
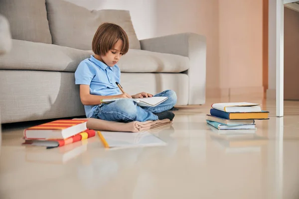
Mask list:
[{"label": "grey-beige sofa back cushion at the far left", "polygon": [[13,39],[52,43],[45,0],[0,0]]}]

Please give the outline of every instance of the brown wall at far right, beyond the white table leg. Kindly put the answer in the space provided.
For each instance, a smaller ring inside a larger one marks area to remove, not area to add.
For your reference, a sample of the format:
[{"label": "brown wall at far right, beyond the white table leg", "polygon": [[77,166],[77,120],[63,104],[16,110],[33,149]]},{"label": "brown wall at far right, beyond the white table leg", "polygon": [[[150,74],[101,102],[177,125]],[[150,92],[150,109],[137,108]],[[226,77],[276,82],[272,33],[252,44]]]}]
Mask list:
[{"label": "brown wall at far right, beyond the white table leg", "polygon": [[285,7],[284,98],[299,100],[299,12]]}]

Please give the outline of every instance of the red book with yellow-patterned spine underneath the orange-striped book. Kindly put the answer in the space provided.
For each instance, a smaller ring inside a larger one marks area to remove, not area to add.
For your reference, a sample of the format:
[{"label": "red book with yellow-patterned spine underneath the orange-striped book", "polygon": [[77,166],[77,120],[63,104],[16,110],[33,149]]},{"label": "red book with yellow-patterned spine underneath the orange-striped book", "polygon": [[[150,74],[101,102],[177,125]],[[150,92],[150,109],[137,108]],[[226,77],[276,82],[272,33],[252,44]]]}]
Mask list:
[{"label": "red book with yellow-patterned spine underneath the orange-striped book", "polygon": [[95,130],[86,129],[72,137],[67,139],[49,139],[49,140],[38,140],[38,139],[26,139],[23,144],[33,145],[33,146],[46,146],[47,148],[61,147],[67,144],[78,142],[96,135]]}]

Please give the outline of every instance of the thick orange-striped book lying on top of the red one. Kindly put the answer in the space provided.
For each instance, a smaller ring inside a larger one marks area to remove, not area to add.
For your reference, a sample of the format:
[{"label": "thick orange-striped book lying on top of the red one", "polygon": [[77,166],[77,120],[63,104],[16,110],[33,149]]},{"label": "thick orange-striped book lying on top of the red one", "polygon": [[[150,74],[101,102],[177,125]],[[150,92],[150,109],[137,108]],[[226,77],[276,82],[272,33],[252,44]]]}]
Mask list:
[{"label": "thick orange-striped book lying on top of the red one", "polygon": [[59,119],[24,130],[25,139],[66,139],[87,129],[85,119]]}]

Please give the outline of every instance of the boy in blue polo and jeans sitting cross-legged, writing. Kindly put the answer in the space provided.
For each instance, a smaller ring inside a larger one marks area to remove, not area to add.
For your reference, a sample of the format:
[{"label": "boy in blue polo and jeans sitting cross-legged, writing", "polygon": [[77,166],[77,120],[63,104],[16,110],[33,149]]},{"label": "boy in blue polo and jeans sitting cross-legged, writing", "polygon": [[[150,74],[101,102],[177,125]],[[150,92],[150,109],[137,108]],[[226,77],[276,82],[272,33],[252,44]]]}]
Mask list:
[{"label": "boy in blue polo and jeans sitting cross-legged, writing", "polygon": [[[108,121],[147,121],[168,118],[168,111],[176,103],[176,94],[167,90],[155,96],[168,97],[155,107],[140,107],[130,98],[150,98],[151,94],[139,93],[130,96],[122,93],[116,82],[120,82],[121,71],[116,65],[129,50],[127,33],[119,25],[103,23],[96,31],[92,50],[95,56],[83,60],[75,72],[75,84],[80,85],[80,99],[87,117]],[[101,103],[102,99],[124,98],[112,103]]]}]

